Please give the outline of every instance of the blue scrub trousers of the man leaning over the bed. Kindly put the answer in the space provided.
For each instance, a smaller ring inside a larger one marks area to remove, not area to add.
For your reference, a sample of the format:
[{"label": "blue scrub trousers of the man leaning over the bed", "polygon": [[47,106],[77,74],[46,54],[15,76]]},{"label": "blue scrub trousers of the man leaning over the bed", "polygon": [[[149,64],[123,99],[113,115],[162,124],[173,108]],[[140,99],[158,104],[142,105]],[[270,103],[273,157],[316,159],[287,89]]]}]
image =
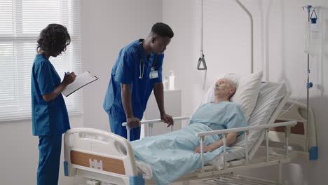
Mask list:
[{"label": "blue scrub trousers of the man leaning over the bed", "polygon": [[[122,137],[128,138],[126,128],[122,126],[122,123],[125,121],[118,121],[114,116],[109,115],[109,124],[111,125],[111,132],[115,133],[116,135],[121,135]],[[140,139],[140,127],[139,128],[132,128],[130,130],[130,140],[135,141]]]}]

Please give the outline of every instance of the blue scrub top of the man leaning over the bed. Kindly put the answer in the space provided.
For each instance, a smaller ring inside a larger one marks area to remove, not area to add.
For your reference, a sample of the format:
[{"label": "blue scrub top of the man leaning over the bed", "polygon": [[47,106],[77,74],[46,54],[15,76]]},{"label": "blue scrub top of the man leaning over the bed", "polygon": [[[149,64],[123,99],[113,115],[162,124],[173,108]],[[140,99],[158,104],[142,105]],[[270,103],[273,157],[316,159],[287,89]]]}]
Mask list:
[{"label": "blue scrub top of the man leaning over the bed", "polygon": [[[138,39],[121,49],[114,67],[111,69],[111,79],[103,107],[107,114],[113,116],[117,121],[126,121],[121,99],[121,83],[130,84],[133,115],[142,119],[147,101],[153,90],[153,84],[162,82],[164,54],[155,55],[155,53],[151,53],[149,60],[147,60],[141,41],[143,39]],[[144,60],[144,67],[140,60],[141,57]],[[149,78],[151,67],[158,71],[158,78]],[[139,78],[142,72],[143,76]]]}]

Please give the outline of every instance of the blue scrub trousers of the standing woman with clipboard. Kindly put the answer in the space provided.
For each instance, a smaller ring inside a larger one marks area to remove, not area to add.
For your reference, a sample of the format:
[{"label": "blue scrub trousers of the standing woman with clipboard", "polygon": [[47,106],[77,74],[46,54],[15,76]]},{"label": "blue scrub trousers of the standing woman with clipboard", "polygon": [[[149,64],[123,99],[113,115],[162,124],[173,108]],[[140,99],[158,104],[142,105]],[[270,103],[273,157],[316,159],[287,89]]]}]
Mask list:
[{"label": "blue scrub trousers of the standing woman with clipboard", "polygon": [[57,185],[62,135],[39,136],[38,185]]}]

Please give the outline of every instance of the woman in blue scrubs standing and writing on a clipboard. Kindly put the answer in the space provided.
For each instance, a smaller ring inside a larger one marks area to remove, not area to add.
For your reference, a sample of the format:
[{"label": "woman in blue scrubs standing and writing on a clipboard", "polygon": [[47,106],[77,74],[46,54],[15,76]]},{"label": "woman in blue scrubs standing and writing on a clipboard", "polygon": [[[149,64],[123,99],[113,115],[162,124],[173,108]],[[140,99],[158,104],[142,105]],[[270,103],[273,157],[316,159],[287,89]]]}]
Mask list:
[{"label": "woman in blue scrubs standing and writing on a clipboard", "polygon": [[71,42],[67,28],[51,24],[42,30],[32,68],[32,131],[39,136],[38,185],[58,184],[62,134],[69,130],[69,118],[62,90],[72,83],[76,75],[67,73],[64,80],[50,63]]}]

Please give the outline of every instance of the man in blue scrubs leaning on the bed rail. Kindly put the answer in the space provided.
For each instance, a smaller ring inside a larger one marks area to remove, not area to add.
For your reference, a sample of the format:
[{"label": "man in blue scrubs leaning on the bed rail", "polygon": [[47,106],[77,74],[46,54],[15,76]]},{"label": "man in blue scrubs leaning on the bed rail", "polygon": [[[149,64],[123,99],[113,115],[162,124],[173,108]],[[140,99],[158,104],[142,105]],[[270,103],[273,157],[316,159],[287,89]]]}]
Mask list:
[{"label": "man in blue scrubs leaning on the bed rail", "polygon": [[172,116],[165,113],[162,83],[162,64],[164,51],[174,33],[172,29],[158,22],[151,28],[146,39],[138,39],[121,49],[104,98],[104,110],[109,115],[111,132],[127,138],[127,122],[131,141],[140,138],[140,120],[146,109],[151,91],[156,98],[160,118],[173,124]]}]

